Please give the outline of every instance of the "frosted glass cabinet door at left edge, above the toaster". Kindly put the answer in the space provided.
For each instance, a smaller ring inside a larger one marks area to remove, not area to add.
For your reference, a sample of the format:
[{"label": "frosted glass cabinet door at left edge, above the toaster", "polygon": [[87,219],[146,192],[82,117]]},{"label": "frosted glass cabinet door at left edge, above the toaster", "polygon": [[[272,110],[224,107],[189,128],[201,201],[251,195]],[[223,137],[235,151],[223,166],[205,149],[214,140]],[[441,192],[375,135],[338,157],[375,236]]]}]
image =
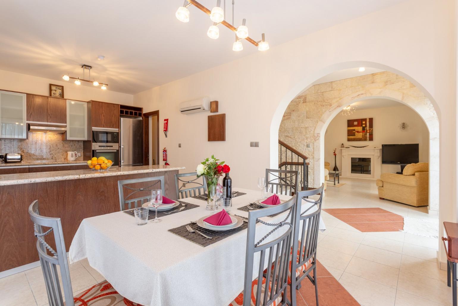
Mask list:
[{"label": "frosted glass cabinet door at left edge, above the toaster", "polygon": [[27,138],[26,95],[0,91],[0,138]]}]

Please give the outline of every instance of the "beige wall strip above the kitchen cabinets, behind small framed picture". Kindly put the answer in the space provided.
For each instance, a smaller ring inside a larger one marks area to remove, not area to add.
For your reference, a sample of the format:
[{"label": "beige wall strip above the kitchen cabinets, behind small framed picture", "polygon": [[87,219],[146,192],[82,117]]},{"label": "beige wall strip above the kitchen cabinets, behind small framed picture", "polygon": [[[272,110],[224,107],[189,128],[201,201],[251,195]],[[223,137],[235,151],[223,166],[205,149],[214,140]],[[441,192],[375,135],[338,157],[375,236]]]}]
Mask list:
[{"label": "beige wall strip above the kitchen cabinets, behind small framed picture", "polygon": [[[84,83],[84,82],[82,82]],[[117,104],[133,105],[133,95],[93,88],[94,86],[76,85],[70,81],[50,80],[33,75],[0,70],[0,90],[20,91],[35,95],[49,96],[49,84],[64,86],[64,98],[81,101],[103,101]]]}]

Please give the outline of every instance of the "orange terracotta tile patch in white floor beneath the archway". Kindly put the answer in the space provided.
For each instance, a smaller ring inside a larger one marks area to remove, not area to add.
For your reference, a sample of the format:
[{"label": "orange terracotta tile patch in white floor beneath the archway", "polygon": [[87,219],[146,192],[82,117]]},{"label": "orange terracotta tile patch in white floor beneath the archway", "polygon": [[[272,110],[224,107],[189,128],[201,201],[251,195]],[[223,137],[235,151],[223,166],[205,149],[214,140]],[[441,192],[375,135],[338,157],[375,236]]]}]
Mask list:
[{"label": "orange terracotta tile patch in white floor beneath the archway", "polygon": [[404,218],[381,208],[327,208],[328,214],[362,232],[402,231]]}]

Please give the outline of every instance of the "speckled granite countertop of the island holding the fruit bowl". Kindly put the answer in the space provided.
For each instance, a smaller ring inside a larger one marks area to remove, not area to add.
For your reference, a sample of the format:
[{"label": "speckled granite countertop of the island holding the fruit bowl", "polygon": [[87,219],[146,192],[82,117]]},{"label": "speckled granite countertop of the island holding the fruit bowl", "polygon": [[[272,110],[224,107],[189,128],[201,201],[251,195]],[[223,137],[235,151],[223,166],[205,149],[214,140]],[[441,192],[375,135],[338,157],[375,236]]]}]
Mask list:
[{"label": "speckled granite countertop of the island holding the fruit bowl", "polygon": [[52,182],[52,181],[65,181],[65,180],[75,180],[75,179],[80,179],[80,178],[107,177],[107,176],[114,176],[114,175],[161,172],[161,171],[172,171],[172,170],[182,170],[182,169],[185,169],[185,167],[164,166],[164,165],[121,166],[121,167],[113,166],[109,170],[102,171],[102,172],[87,169],[87,170],[4,174],[4,175],[0,175],[0,186],[21,185],[21,184],[28,184],[28,183],[41,183],[41,182]]}]

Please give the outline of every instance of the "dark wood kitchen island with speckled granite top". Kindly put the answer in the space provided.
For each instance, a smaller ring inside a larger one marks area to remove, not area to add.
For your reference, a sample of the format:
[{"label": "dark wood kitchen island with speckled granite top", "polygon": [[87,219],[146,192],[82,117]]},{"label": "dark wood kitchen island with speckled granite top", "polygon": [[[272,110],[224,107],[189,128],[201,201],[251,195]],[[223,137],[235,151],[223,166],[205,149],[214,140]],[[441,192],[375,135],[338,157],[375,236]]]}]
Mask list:
[{"label": "dark wood kitchen island with speckled granite top", "polygon": [[40,215],[61,218],[68,250],[84,218],[120,210],[118,181],[164,176],[165,195],[176,199],[174,175],[181,169],[184,167],[121,166],[104,172],[87,169],[0,175],[0,273],[38,261],[37,240],[28,215],[34,200],[38,200]]}]

